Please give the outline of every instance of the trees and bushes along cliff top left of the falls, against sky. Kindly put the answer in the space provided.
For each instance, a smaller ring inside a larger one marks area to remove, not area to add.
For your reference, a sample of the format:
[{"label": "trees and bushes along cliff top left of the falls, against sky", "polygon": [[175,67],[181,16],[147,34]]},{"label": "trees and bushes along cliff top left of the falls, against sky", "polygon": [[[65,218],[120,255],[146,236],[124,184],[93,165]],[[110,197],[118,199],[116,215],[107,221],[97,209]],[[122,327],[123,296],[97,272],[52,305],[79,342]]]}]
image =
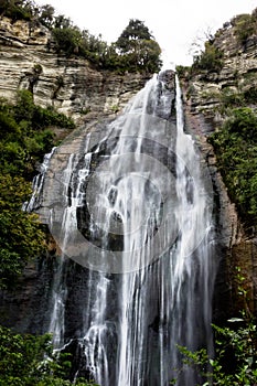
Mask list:
[{"label": "trees and bushes along cliff top left of the falls, against sky", "polygon": [[52,6],[39,7],[32,0],[0,0],[0,14],[15,20],[40,22],[52,31],[51,47],[66,56],[81,56],[101,69],[119,73],[156,73],[161,68],[161,50],[148,28],[140,20],[131,19],[117,42],[107,44],[101,35],[81,31],[72,21],[55,15]]}]

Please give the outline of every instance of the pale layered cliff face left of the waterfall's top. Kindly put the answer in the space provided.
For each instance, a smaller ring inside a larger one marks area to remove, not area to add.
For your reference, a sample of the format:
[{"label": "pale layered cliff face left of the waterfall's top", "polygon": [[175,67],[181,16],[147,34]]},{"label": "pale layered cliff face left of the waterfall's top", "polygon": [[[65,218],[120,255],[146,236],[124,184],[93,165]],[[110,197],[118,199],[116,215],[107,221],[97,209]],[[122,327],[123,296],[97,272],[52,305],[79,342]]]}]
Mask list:
[{"label": "pale layered cliff face left of the waterfall's top", "polygon": [[57,55],[50,31],[38,22],[0,19],[0,97],[30,89],[34,103],[53,106],[77,124],[115,115],[147,76],[96,71],[84,58]]}]

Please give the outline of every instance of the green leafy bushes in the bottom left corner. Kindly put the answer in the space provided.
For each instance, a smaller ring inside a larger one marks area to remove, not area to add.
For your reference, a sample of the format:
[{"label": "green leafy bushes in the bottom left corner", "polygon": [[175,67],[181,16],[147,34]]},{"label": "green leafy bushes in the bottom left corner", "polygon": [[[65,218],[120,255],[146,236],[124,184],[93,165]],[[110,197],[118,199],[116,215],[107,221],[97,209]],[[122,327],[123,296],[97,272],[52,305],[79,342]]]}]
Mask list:
[{"label": "green leafy bushes in the bottom left corner", "polygon": [[0,326],[0,386],[96,386],[69,382],[68,354],[53,352],[51,335],[22,335]]}]

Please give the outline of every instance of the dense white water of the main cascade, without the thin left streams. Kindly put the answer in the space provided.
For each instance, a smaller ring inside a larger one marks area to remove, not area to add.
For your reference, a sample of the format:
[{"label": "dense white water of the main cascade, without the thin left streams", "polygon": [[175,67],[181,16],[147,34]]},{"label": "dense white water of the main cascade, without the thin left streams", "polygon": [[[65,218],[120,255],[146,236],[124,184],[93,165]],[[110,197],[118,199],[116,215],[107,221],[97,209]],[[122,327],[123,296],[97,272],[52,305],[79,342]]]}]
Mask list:
[{"label": "dense white water of the main cascade, without the thin left streams", "polygon": [[[108,174],[97,192],[96,202],[100,204],[95,222],[110,229],[111,213],[115,212],[121,218],[122,229],[119,230],[124,236],[124,251],[119,255],[124,274],[120,274],[116,294],[118,315],[115,329],[108,320],[111,280],[105,274],[98,274],[89,285],[95,290],[90,293],[93,309],[87,310],[89,325],[84,337],[85,354],[94,378],[103,386],[157,385],[157,382],[165,386],[173,375],[176,376],[172,368],[181,366],[176,344],[191,350],[206,346],[212,351],[211,303],[215,264],[210,243],[211,199],[201,180],[200,158],[193,140],[183,131],[178,83],[174,186],[174,175],[167,174],[167,170],[163,172],[159,161],[141,152],[146,138],[157,141],[157,150],[160,144],[162,118],[152,125],[149,115],[157,117],[159,107],[162,116],[169,116],[171,99],[163,90],[163,83],[153,78],[133,99],[127,115],[119,118],[122,121],[119,140],[108,161]],[[119,120],[113,124],[115,128],[116,125],[120,127]],[[127,138],[131,132],[139,138],[132,153]],[[108,195],[114,186],[115,200],[110,202]],[[163,201],[165,213],[161,218]],[[162,234],[158,237],[153,235],[154,227],[161,228]],[[94,227],[92,229],[94,233]],[[173,234],[178,237],[172,245]],[[107,244],[105,239],[105,247]],[[156,261],[157,250],[160,258]],[[103,258],[107,256],[103,250]],[[156,331],[150,337],[151,329]],[[118,341],[115,358],[109,357],[108,345],[111,343],[108,334],[116,334]],[[116,368],[110,382],[111,366]],[[178,385],[191,386],[194,379],[193,372],[186,369],[181,372]]]}]

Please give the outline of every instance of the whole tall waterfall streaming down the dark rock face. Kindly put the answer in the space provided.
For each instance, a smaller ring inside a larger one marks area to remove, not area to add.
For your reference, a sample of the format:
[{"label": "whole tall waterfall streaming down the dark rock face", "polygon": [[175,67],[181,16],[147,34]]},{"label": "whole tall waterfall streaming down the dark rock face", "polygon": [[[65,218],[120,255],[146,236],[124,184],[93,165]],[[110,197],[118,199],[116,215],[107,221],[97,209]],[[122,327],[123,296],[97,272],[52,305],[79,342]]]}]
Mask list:
[{"label": "whole tall waterfall streaming down the dark rock face", "polygon": [[60,350],[73,339],[65,332],[71,257],[86,272],[75,372],[100,386],[168,386],[174,377],[192,386],[199,375],[176,346],[212,353],[212,189],[173,84],[173,72],[154,76],[100,140],[69,158],[64,207],[51,208],[63,257],[50,330]]}]

